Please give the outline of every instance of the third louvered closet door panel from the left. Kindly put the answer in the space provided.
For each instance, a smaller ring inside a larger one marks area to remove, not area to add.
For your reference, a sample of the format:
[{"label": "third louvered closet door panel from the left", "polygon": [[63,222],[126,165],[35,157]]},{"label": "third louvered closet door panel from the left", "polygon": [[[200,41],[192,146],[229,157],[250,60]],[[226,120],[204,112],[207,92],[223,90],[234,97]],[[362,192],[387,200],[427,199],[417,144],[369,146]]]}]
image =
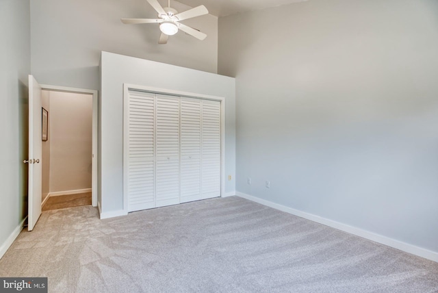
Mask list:
[{"label": "third louvered closet door panel from the left", "polygon": [[201,100],[181,98],[181,203],[201,199]]}]

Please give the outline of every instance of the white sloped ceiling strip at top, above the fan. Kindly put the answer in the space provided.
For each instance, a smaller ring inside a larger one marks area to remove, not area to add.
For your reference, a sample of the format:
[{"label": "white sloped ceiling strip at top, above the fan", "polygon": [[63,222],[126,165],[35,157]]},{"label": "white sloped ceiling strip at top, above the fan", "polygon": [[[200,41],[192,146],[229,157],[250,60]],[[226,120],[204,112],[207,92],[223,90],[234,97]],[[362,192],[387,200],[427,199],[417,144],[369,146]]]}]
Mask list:
[{"label": "white sloped ceiling strip at top, above the fan", "polygon": [[[159,0],[160,3],[163,0]],[[304,2],[307,0],[178,0],[192,7],[205,5],[209,13],[214,16],[227,16],[230,14],[260,10],[275,6]],[[162,3],[163,4],[163,3]],[[170,3],[172,5],[172,3]]]}]

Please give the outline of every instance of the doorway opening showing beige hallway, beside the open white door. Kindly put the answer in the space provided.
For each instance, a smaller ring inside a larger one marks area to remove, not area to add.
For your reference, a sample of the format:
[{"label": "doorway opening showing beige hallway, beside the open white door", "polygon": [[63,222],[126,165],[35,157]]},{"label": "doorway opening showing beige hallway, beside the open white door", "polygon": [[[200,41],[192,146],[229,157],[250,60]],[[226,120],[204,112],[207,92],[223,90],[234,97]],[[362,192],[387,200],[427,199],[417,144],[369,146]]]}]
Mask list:
[{"label": "doorway opening showing beige hallway, beside the open white door", "polygon": [[97,92],[41,87],[42,108],[49,118],[42,141],[42,211],[95,207]]}]

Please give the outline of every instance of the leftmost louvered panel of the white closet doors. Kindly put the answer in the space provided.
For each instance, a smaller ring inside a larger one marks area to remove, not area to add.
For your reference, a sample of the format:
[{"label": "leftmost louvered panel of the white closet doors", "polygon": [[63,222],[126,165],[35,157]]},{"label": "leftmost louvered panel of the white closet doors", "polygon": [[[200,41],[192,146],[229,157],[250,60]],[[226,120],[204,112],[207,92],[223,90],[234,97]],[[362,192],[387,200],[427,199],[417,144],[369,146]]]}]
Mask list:
[{"label": "leftmost louvered panel of the white closet doors", "polygon": [[129,92],[128,101],[128,210],[155,207],[154,95]]}]

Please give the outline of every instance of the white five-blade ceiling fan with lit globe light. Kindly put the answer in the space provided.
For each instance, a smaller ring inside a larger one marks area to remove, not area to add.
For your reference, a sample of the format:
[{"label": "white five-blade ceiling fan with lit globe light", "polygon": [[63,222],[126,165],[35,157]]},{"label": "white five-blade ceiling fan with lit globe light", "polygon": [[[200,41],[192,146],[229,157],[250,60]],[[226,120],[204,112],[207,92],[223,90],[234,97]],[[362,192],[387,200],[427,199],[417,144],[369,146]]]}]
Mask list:
[{"label": "white five-blade ceiling fan with lit globe light", "polygon": [[207,38],[207,35],[201,31],[179,23],[179,21],[183,21],[188,18],[208,14],[208,10],[204,5],[200,5],[190,10],[186,10],[185,12],[178,13],[174,8],[170,8],[170,0],[168,0],[168,7],[164,8],[158,3],[157,0],[146,1],[148,1],[153,9],[158,12],[158,18],[122,18],[122,23],[159,23],[159,30],[162,31],[162,34],[159,36],[158,44],[166,44],[169,36],[177,34],[179,29],[199,40],[204,40]]}]

